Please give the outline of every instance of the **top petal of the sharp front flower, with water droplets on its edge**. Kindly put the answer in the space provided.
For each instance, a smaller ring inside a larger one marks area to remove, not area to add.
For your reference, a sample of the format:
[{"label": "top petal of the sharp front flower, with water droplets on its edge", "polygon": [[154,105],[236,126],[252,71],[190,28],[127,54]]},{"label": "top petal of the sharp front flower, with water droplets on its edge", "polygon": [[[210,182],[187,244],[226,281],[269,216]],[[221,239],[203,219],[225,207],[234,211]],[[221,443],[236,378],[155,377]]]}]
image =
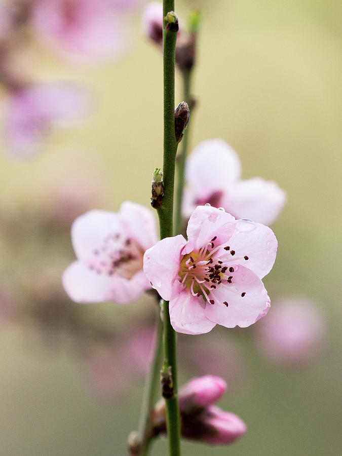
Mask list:
[{"label": "top petal of the sharp front flower, with water droplets on its edge", "polygon": [[186,229],[188,243],[183,254],[199,250],[214,237],[218,246],[230,240],[236,225],[235,218],[215,207],[198,206],[192,213]]}]

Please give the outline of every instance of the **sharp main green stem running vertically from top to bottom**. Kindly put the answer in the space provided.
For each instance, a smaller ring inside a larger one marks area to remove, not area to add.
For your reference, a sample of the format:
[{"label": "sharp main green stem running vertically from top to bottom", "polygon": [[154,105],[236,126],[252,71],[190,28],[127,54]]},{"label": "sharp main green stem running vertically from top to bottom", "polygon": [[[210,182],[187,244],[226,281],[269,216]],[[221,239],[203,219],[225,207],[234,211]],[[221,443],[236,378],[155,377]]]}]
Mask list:
[{"label": "sharp main green stem running vertically from top to bottom", "polygon": [[[173,0],[163,0],[163,17],[174,10]],[[170,25],[170,23],[169,23]],[[177,153],[175,137],[175,49],[177,32],[172,31],[164,19],[163,67],[164,67],[164,198],[157,209],[161,239],[173,236],[174,173]],[[177,340],[170,322],[169,303],[163,300],[164,312],[164,373],[170,373],[171,397],[165,398],[166,425],[170,456],[180,455],[180,424],[177,398]]]}]

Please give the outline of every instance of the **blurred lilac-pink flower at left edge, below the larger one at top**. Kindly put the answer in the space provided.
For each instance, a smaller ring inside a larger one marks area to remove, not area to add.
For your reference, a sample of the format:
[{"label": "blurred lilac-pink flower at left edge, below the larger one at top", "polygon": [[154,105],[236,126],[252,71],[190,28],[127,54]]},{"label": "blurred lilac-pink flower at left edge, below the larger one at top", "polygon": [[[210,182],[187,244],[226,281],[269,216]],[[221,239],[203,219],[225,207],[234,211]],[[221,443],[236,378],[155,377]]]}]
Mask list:
[{"label": "blurred lilac-pink flower at left edge, below the larger one at top", "polygon": [[77,120],[88,109],[87,94],[72,84],[37,84],[11,93],[5,133],[12,154],[31,156],[52,127]]}]

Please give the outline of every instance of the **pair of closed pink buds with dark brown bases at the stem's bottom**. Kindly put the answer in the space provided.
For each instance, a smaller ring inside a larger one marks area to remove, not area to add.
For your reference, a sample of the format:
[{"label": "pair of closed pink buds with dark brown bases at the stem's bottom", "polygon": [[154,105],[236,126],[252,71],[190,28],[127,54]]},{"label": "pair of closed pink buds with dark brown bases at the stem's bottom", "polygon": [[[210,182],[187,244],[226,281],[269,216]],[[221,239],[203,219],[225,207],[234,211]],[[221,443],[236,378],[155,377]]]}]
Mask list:
[{"label": "pair of closed pink buds with dark brown bases at the stem's bottom", "polygon": [[[224,380],[214,375],[193,378],[179,389],[182,437],[226,445],[246,432],[246,425],[239,416],[214,405],[225,390]],[[155,435],[166,431],[165,415],[165,401],[161,399],[154,410]]]}]

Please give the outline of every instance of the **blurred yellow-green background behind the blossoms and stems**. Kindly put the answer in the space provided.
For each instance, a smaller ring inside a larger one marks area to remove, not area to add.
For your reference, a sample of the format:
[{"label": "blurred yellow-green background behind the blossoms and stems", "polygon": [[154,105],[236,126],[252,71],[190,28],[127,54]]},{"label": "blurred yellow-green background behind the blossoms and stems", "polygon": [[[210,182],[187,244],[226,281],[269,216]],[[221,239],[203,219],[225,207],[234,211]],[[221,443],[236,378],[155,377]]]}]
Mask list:
[{"label": "blurred yellow-green background behind the blossoms and stems", "polygon": [[[220,406],[248,426],[233,446],[183,441],[183,454],[337,455],[341,4],[176,1],[180,17],[192,7],[204,14],[191,144],[223,138],[240,154],[244,178],[262,176],[286,189],[287,206],[272,225],[279,253],[265,286],[275,303],[288,295],[316,302],[326,336],[317,357],[295,368],[263,357],[253,327],[180,337],[180,383],[212,372],[211,350],[229,383]],[[162,165],[161,55],[142,34],[139,11],[120,59],[71,64],[42,43],[25,57],[39,80],[88,88],[93,110],[77,126],[54,130],[29,160],[13,159],[0,141],[4,456],[124,455],[137,427],[143,368],[127,352],[127,337],[151,323],[153,298],[127,307],[75,305],[60,276],[73,260],[66,206],[71,214],[117,210],[123,200],[148,206],[151,172]],[[160,440],[151,455],[166,448]]]}]

